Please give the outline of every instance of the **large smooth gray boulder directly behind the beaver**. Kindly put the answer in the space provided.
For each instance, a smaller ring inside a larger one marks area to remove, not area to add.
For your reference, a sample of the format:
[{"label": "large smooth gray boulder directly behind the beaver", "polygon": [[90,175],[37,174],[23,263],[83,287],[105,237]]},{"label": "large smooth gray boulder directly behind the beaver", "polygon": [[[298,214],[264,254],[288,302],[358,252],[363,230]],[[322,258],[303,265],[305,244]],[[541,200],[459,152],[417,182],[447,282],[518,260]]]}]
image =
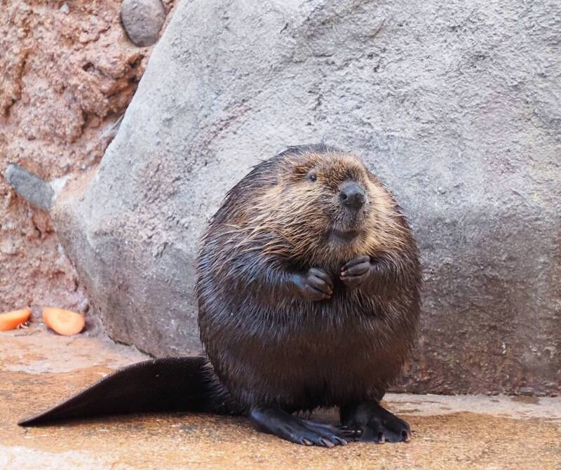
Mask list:
[{"label": "large smooth gray boulder directly behind the beaver", "polygon": [[111,337],[198,349],[198,238],[284,145],[350,149],[419,240],[411,391],[561,391],[555,1],[183,1],[58,231]]}]

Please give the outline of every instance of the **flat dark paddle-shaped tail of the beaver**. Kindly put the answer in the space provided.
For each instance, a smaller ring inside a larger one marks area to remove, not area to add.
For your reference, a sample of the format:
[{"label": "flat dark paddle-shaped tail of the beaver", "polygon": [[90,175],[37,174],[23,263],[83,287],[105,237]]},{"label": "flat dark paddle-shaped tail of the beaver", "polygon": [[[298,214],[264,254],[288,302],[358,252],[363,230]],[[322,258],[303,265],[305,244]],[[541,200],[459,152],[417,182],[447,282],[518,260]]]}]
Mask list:
[{"label": "flat dark paddle-shaped tail of the beaver", "polygon": [[135,412],[236,413],[203,356],[153,359],[128,365],[20,426]]}]

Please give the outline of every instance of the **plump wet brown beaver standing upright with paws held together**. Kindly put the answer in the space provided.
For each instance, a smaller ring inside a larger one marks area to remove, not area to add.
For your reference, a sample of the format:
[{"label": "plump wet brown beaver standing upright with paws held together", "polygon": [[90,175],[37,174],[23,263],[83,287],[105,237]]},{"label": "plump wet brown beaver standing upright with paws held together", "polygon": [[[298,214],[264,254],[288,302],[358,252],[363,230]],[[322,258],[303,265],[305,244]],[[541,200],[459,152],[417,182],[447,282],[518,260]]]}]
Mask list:
[{"label": "plump wet brown beaver standing upright with paws held together", "polygon": [[[304,445],[409,441],[380,401],[412,349],[420,283],[412,231],[379,178],[336,147],[288,147],[227,193],[203,235],[203,355],[131,365],[20,424],[194,410]],[[326,407],[342,426],[295,415]]]}]

